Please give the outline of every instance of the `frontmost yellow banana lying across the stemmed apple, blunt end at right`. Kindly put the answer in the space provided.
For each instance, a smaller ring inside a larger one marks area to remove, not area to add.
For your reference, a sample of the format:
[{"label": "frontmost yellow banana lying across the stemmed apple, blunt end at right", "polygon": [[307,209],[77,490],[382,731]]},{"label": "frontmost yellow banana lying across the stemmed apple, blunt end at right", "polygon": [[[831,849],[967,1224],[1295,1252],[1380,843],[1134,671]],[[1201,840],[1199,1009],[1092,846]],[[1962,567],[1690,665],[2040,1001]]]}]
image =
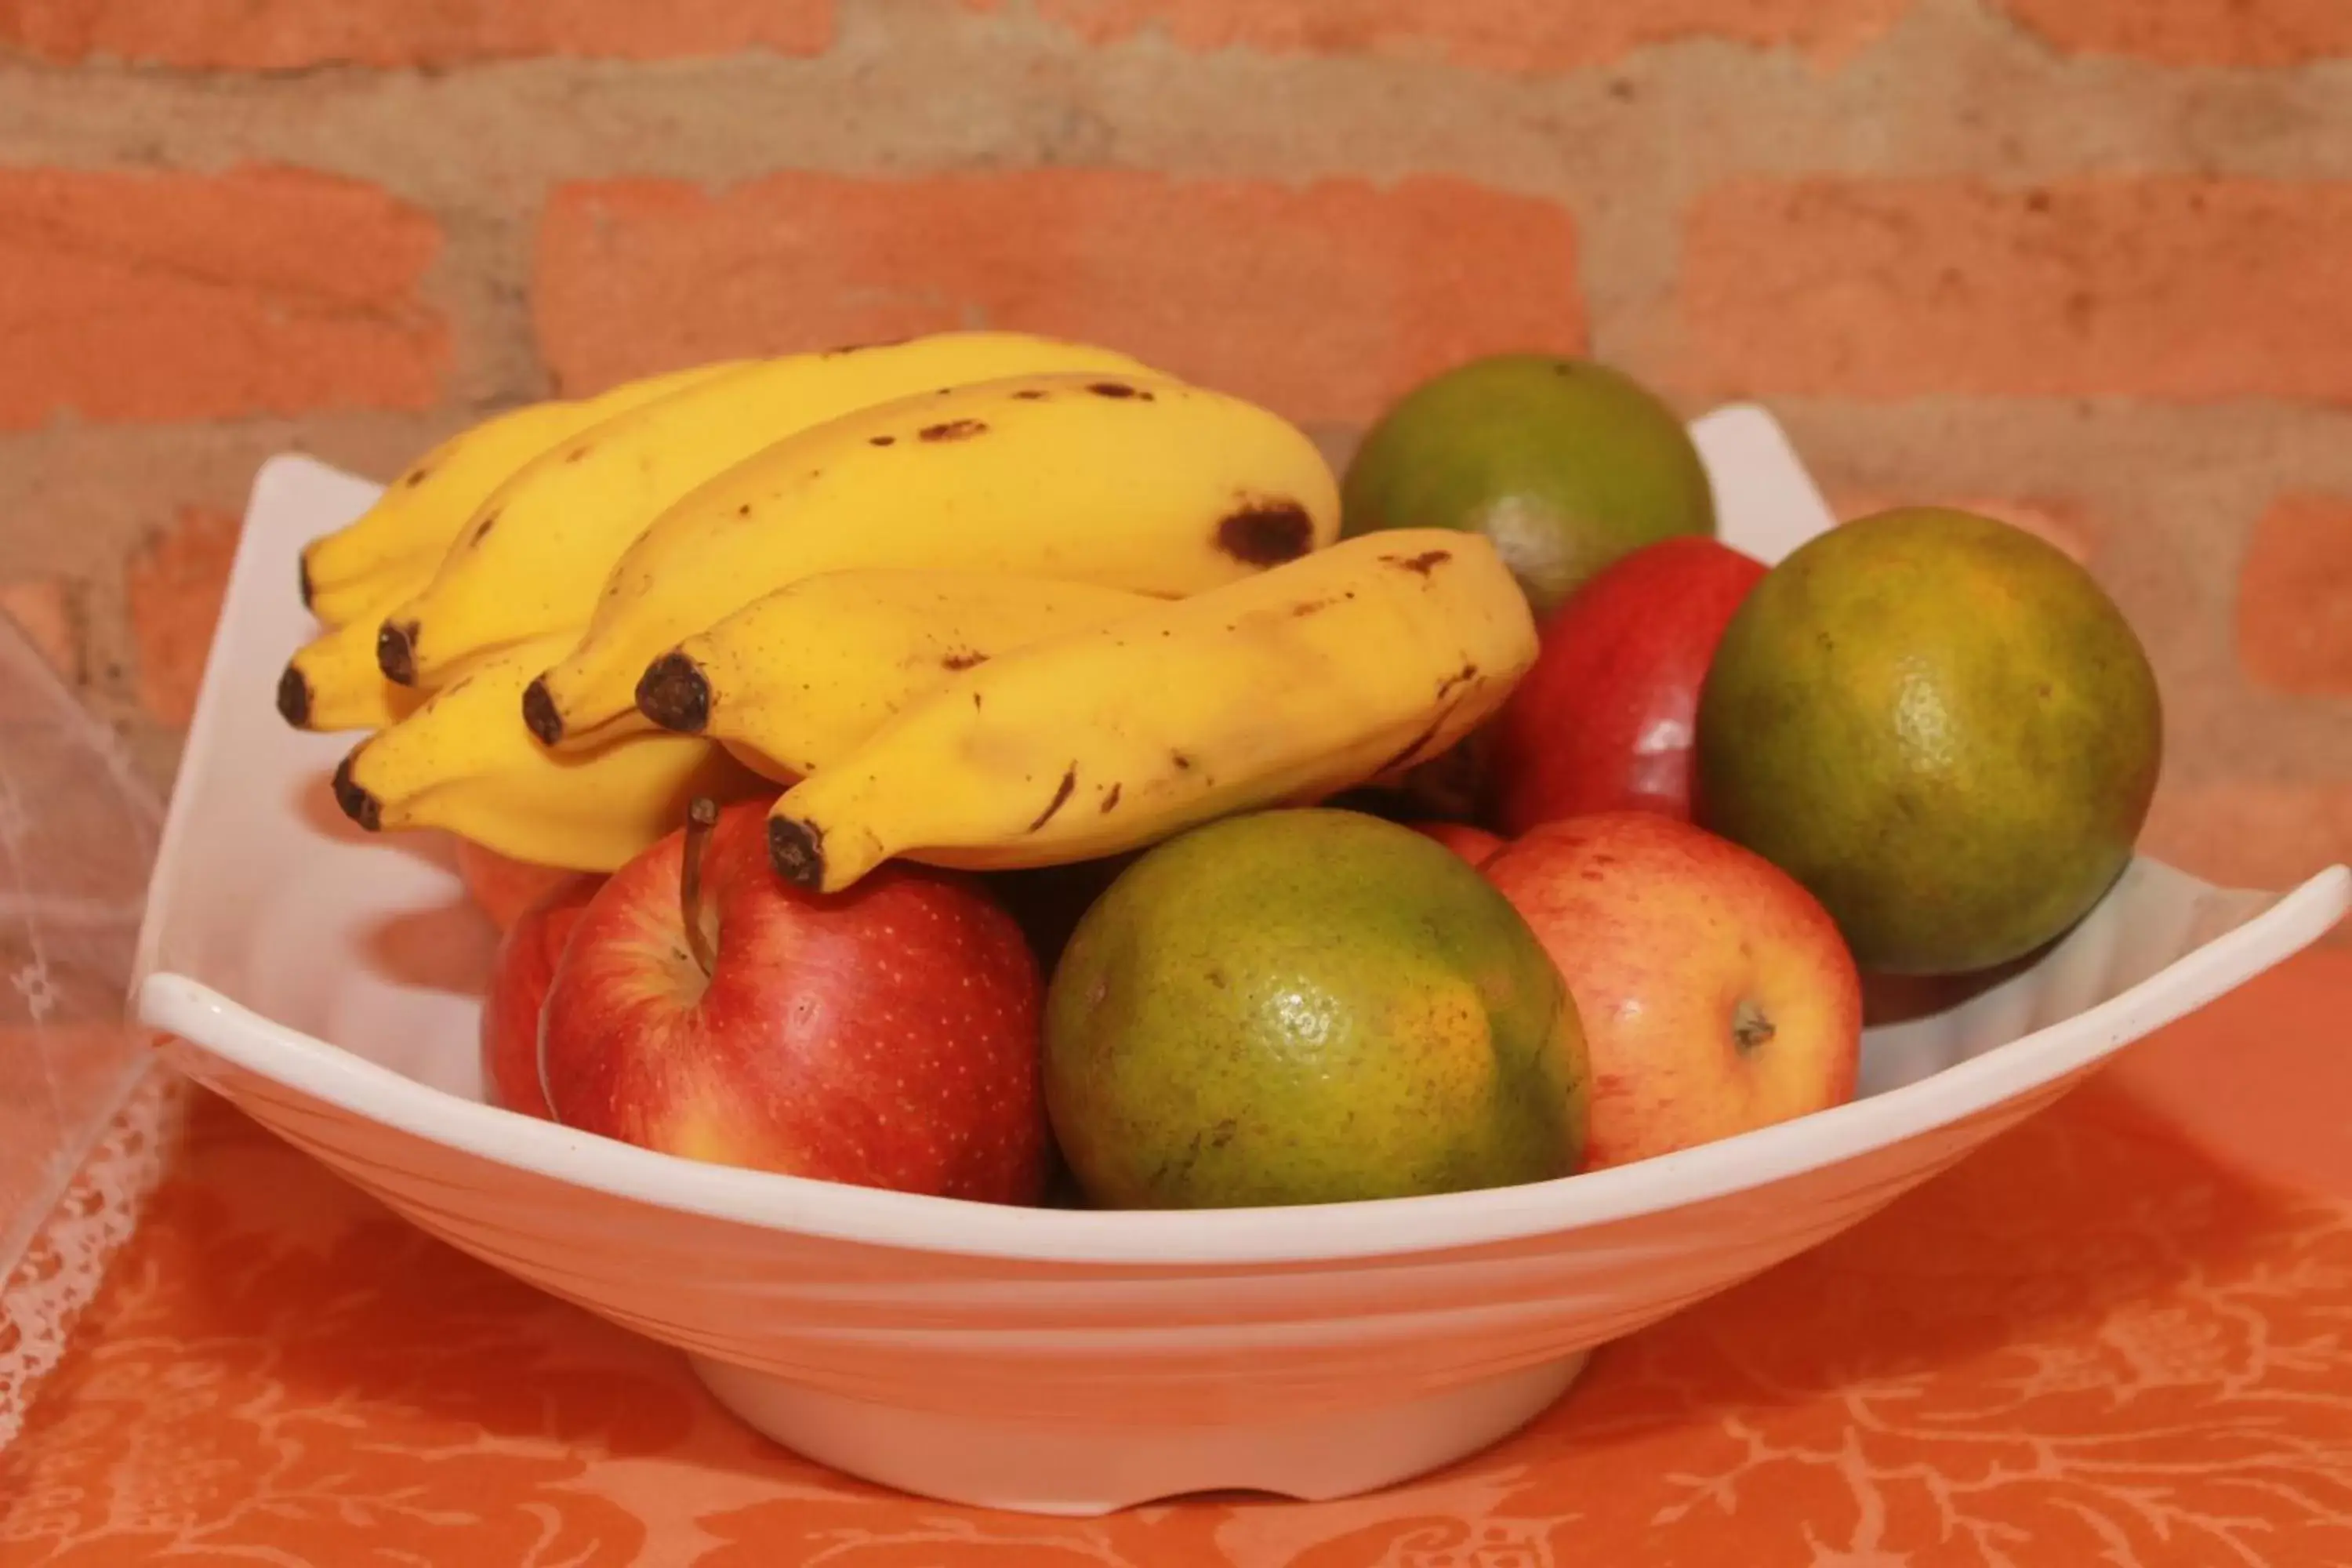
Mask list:
[{"label": "frontmost yellow banana lying across the stemmed apple, blunt end at right", "polygon": [[840,891],[889,856],[1002,870],[1390,778],[1486,719],[1536,623],[1482,534],[1367,534],[953,677],[769,813]]}]

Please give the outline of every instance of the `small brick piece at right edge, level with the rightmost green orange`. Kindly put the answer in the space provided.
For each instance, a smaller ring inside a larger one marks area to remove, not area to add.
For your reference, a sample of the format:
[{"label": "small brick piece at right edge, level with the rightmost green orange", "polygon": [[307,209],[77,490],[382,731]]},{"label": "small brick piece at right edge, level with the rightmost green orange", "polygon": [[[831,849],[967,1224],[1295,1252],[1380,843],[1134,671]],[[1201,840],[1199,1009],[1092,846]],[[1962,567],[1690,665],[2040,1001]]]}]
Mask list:
[{"label": "small brick piece at right edge, level with the rightmost green orange", "polygon": [[2256,522],[2237,658],[2263,686],[2352,696],[2352,498],[2284,496]]}]

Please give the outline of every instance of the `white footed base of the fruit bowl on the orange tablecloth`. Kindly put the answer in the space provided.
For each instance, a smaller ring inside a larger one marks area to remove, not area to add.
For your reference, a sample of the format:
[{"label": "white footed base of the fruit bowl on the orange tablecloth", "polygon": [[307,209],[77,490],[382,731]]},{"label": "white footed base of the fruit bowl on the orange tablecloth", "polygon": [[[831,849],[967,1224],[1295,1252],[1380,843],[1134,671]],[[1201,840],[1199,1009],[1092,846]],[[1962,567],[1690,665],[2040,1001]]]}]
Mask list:
[{"label": "white footed base of the fruit bowl on the orange tablecloth", "polygon": [[753,1429],[802,1458],[903,1493],[1016,1514],[1094,1516],[1183,1493],[1256,1490],[1324,1502],[1409,1481],[1517,1432],[1585,1356],[1369,1410],[1216,1427],[985,1420],[842,1399],[691,1356],[694,1375]]}]

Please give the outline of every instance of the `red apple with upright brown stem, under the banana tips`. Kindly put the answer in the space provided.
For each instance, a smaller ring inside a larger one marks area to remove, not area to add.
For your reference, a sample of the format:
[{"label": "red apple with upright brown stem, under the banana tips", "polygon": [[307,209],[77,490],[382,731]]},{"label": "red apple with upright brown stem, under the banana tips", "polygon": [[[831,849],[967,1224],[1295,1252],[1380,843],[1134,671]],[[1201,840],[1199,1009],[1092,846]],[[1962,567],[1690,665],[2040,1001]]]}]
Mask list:
[{"label": "red apple with upright brown stem, under the banana tips", "polygon": [[557,1121],[649,1150],[1035,1204],[1042,997],[976,879],[891,863],[804,893],[762,802],[699,804],[588,900],[539,1067]]}]

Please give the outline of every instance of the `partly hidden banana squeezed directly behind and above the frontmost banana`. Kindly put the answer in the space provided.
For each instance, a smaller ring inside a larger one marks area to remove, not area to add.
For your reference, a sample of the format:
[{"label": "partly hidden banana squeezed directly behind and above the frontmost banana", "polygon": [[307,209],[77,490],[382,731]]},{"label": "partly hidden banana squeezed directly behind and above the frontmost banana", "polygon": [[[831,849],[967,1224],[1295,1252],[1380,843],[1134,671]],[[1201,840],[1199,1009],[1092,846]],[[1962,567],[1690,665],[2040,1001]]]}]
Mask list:
[{"label": "partly hidden banana squeezed directly behind and above the frontmost banana", "polygon": [[960,670],[1152,604],[1162,599],[1033,576],[823,571],[663,654],[637,705],[790,780],[830,766]]}]

